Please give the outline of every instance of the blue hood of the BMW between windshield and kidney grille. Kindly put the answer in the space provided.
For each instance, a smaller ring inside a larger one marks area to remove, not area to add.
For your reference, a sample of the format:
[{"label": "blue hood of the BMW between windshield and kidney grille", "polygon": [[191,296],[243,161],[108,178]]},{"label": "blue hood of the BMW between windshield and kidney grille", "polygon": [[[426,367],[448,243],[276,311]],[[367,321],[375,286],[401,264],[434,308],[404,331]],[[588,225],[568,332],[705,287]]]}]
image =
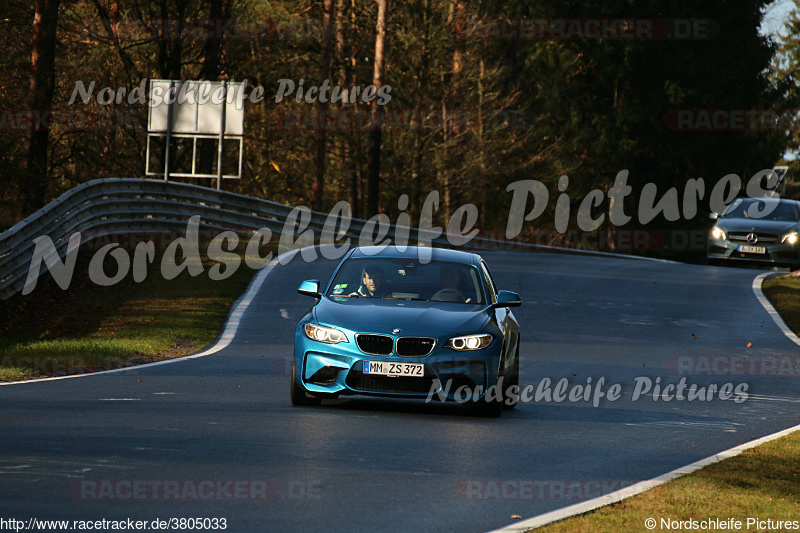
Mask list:
[{"label": "blue hood of the BMW between windshield and kidney grille", "polygon": [[366,333],[400,329],[403,335],[433,337],[479,332],[490,314],[491,309],[481,305],[372,298],[322,298],[314,309],[320,324]]}]

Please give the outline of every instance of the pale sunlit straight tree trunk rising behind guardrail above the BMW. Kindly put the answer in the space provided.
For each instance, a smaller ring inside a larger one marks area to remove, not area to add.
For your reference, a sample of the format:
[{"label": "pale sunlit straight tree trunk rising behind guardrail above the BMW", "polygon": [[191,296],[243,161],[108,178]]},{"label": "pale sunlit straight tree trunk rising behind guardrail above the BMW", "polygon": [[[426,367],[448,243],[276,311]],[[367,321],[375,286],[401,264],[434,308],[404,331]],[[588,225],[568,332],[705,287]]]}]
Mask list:
[{"label": "pale sunlit straight tree trunk rising behind guardrail above the BMW", "polygon": [[[375,0],[378,4],[378,21],[375,24],[375,57],[372,65],[372,84],[375,92],[383,86],[383,52],[386,39],[386,1]],[[382,110],[378,98],[372,101],[370,113],[369,175],[367,176],[367,215],[378,213],[381,173]]]}]

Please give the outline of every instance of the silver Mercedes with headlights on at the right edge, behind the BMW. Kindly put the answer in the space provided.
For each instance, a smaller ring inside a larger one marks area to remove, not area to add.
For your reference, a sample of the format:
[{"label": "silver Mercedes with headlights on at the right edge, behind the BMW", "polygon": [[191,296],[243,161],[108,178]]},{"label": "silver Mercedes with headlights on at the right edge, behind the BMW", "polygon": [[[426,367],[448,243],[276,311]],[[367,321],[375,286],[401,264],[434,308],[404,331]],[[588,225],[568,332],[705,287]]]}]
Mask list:
[{"label": "silver Mercedes with headlights on at the right edge, behind the BMW", "polygon": [[709,263],[750,261],[800,268],[800,202],[779,198],[737,198],[708,236]]}]

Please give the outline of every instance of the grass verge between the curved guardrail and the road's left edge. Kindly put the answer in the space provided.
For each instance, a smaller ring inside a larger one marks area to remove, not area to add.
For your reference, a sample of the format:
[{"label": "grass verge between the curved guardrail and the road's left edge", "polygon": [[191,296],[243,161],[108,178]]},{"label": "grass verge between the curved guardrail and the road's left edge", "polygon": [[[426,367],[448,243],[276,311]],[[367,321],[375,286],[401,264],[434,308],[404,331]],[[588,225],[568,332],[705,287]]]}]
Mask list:
[{"label": "grass verge between the curved guardrail and the road's left edge", "polygon": [[27,296],[0,302],[0,381],[120,368],[196,352],[219,334],[233,302],[255,270],[242,262],[235,274],[212,281],[184,271],[165,280],[160,257],[147,278],[129,275],[100,287],[88,279],[81,251],[68,290],[44,274]]}]

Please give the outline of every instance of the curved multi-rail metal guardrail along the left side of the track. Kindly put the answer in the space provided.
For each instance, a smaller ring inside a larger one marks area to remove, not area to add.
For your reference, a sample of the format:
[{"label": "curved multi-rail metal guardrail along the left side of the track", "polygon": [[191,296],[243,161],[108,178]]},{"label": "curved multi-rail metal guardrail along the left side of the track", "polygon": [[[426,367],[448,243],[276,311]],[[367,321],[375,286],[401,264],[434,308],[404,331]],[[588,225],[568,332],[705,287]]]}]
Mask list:
[{"label": "curved multi-rail metal guardrail along the left side of the track", "polygon": [[[37,237],[49,237],[53,242],[52,253],[59,255],[52,259],[60,260],[66,255],[69,238],[75,232],[82,234],[82,244],[88,239],[136,232],[182,233],[189,219],[200,215],[204,230],[232,230],[240,235],[252,235],[261,228],[269,228],[279,233],[293,209],[276,202],[186,183],[140,178],[89,181],[0,233],[0,299],[6,300],[22,291]],[[308,228],[318,241],[329,214],[307,211],[305,216],[309,218]],[[337,234],[337,238],[359,237],[367,223],[351,219],[347,231]],[[396,227],[391,226],[388,236],[394,237],[395,230]],[[418,228],[404,228],[404,231],[408,232],[410,242],[418,241]],[[432,244],[450,245],[445,234],[431,237]],[[43,267],[40,275],[44,271]]]}]

